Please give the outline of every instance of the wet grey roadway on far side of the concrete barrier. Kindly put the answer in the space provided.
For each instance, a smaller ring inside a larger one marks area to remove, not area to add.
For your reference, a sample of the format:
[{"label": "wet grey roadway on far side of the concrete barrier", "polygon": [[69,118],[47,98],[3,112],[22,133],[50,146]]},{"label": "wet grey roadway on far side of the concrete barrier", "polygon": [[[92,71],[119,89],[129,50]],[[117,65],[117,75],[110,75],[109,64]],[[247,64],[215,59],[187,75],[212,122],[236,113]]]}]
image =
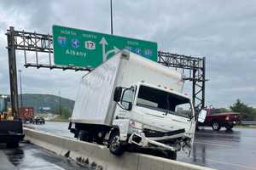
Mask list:
[{"label": "wet grey roadway on far side of the concrete barrier", "polygon": [[[73,138],[73,134],[67,130],[67,122],[46,122],[45,125],[30,126]],[[196,132],[194,150],[190,156],[178,154],[177,160],[223,170],[256,170],[256,129],[234,128],[230,132],[201,129]]]}]

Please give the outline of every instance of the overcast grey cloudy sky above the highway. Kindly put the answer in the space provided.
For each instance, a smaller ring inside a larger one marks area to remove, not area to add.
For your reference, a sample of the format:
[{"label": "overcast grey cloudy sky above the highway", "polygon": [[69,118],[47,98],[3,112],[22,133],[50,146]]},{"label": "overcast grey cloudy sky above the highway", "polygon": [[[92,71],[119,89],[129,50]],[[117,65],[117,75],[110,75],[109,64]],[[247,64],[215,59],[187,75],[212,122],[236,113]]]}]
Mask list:
[{"label": "overcast grey cloudy sky above the highway", "polygon": [[[109,1],[1,0],[0,94],[9,94],[9,26],[52,34],[53,25],[110,33]],[[113,0],[113,34],[158,42],[161,51],[205,56],[207,105],[229,107],[241,99],[256,106],[256,1]],[[25,68],[22,53],[16,55],[23,93],[75,99],[84,72]]]}]

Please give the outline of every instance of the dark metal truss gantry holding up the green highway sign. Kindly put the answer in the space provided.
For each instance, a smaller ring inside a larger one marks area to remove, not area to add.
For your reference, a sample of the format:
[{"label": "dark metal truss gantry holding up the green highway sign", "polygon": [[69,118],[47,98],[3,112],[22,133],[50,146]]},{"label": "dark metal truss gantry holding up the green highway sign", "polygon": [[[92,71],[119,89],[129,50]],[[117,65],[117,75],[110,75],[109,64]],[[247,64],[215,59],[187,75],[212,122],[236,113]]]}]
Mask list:
[{"label": "dark metal truss gantry holding up the green highway sign", "polygon": [[[16,75],[16,50],[24,53],[24,66],[36,68],[49,68],[74,70],[74,71],[91,71],[92,68],[78,67],[73,65],[55,65],[53,62],[53,37],[49,34],[40,34],[36,32],[15,31],[14,27],[7,30],[8,51],[9,51],[9,77],[12,111],[17,114],[18,111],[18,90]],[[27,53],[31,52],[35,62],[30,62]],[[44,63],[38,59],[38,54],[46,54]],[[189,71],[186,80],[192,81],[192,98],[195,108],[200,111],[205,106],[205,58],[195,58],[180,54],[171,54],[158,52],[158,62],[162,65],[181,69],[183,73]],[[47,61],[46,61],[47,60]]]}]

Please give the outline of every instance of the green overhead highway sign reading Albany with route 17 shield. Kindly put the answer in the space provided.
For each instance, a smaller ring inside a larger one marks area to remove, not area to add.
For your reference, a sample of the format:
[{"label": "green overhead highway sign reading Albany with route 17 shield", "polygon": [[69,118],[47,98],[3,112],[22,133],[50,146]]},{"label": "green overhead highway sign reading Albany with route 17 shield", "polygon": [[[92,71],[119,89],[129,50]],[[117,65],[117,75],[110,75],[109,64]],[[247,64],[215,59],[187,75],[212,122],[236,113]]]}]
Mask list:
[{"label": "green overhead highway sign reading Albany with route 17 shield", "polygon": [[121,49],[157,61],[157,43],[53,26],[55,65],[95,68]]}]

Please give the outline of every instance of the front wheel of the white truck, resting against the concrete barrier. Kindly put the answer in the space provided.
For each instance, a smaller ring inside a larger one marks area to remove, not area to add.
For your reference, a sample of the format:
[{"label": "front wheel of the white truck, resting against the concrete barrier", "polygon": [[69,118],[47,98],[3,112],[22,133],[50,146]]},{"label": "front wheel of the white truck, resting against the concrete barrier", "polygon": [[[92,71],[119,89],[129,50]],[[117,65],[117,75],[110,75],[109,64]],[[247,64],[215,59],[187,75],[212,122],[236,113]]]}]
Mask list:
[{"label": "front wheel of the white truck, resting against the concrete barrier", "polygon": [[119,131],[114,130],[110,134],[108,146],[109,146],[109,151],[115,156],[121,156],[124,153],[125,150],[120,141]]}]

